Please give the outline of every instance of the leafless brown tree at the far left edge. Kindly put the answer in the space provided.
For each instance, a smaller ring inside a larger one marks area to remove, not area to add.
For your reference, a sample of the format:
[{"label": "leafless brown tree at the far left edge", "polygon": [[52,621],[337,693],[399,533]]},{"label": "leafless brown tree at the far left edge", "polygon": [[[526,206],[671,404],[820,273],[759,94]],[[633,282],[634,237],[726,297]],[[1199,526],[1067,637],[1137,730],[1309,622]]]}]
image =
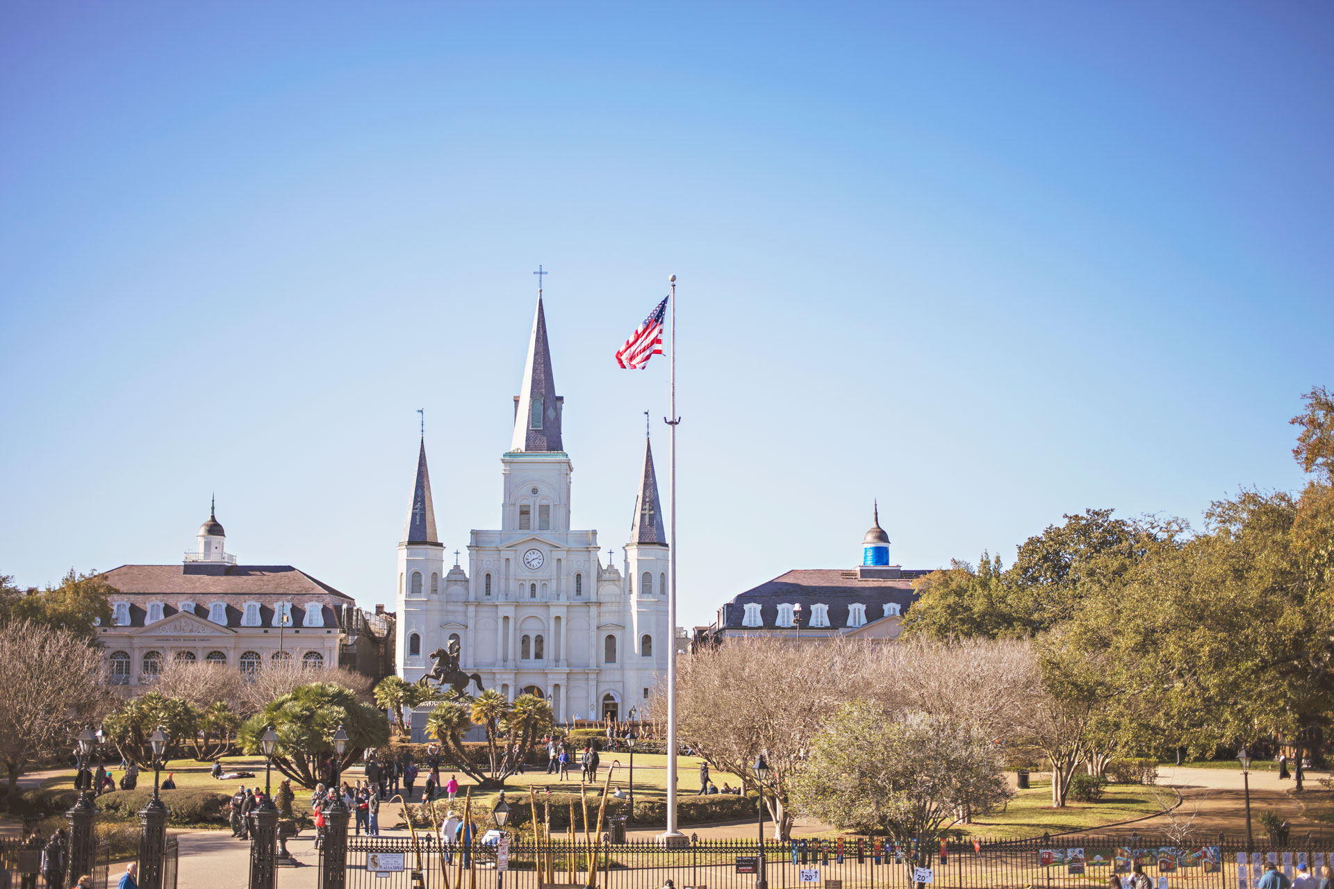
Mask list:
[{"label": "leafless brown tree at the far left edge", "polygon": [[73,746],[81,725],[109,712],[101,653],[64,629],[0,628],[0,761],[15,793],[24,766]]}]

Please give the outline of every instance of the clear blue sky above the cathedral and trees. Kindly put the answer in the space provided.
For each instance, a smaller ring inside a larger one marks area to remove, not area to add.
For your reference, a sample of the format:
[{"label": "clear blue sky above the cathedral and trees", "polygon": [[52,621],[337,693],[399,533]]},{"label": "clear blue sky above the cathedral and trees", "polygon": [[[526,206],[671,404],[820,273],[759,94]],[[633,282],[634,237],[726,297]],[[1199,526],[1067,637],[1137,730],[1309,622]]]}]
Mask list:
[{"label": "clear blue sky above the cathedral and trees", "polygon": [[[1327,3],[8,3],[0,573],[228,548],[392,608],[418,408],[499,521],[538,264],[626,541],[679,276],[682,622],[1295,488],[1334,385]],[[666,472],[660,478],[666,485]],[[664,490],[666,494],[666,490]]]}]

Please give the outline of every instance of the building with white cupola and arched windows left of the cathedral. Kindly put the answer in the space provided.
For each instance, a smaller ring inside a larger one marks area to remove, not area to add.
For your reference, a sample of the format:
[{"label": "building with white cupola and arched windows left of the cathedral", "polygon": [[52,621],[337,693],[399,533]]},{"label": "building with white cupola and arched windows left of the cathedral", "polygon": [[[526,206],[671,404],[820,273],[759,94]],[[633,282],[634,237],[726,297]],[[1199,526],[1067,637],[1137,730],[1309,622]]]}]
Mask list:
[{"label": "building with white cupola and arched windows left of the cathedral", "polygon": [[244,565],[227,552],[215,506],[195,548],[173,565],[121,565],[104,574],[112,620],[97,628],[112,685],[152,685],[169,661],[216,664],[255,674],[265,664],[386,673],[394,618],[356,608],[351,596],[292,565]]}]

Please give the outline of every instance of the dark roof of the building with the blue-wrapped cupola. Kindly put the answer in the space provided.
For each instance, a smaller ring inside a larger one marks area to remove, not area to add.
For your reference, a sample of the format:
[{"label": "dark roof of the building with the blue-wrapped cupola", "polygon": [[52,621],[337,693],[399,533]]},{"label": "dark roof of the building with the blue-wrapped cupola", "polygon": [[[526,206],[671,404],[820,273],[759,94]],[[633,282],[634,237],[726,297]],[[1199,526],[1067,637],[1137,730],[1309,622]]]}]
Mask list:
[{"label": "dark roof of the building with the blue-wrapped cupola", "polygon": [[867,622],[884,616],[886,602],[896,602],[899,613],[906,614],[908,608],[916,601],[912,592],[912,581],[927,570],[900,569],[899,577],[884,577],[890,573],[886,569],[874,572],[880,574],[872,580],[859,580],[858,569],[796,569],[766,581],[759,586],[747,589],[724,602],[719,613],[719,628],[743,629],[742,620],[746,616],[747,602],[759,602],[760,620],[764,626],[776,626],[778,606],[783,602],[802,604],[800,625],[810,626],[811,605],[823,602],[828,605],[830,628],[847,626],[848,605],[860,602],[866,605]]}]

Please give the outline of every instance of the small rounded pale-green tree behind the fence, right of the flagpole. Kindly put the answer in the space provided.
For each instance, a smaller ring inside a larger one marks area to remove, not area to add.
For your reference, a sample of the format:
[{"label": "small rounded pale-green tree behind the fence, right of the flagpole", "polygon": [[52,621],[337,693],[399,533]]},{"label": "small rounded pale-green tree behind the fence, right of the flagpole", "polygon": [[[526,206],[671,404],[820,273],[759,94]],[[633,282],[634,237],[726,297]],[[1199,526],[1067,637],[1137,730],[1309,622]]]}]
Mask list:
[{"label": "small rounded pale-green tree behind the fence, right of the flagpole", "polygon": [[954,824],[1013,796],[998,748],[976,726],[850,701],[811,741],[794,801],[839,830],[886,833],[928,866]]}]

